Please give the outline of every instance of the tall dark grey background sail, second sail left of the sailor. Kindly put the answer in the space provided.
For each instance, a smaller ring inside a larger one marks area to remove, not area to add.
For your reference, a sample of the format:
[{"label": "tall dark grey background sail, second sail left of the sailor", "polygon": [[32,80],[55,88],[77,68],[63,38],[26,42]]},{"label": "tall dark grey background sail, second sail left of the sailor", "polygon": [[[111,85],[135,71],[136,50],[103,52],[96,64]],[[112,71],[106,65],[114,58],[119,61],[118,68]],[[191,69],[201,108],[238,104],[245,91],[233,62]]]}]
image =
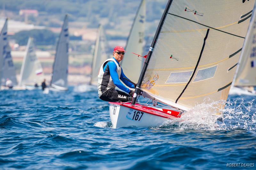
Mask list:
[{"label": "tall dark grey background sail, second sail left of the sailor", "polygon": [[68,41],[68,15],[66,15],[57,43],[52,70],[51,86],[59,90],[68,90]]}]

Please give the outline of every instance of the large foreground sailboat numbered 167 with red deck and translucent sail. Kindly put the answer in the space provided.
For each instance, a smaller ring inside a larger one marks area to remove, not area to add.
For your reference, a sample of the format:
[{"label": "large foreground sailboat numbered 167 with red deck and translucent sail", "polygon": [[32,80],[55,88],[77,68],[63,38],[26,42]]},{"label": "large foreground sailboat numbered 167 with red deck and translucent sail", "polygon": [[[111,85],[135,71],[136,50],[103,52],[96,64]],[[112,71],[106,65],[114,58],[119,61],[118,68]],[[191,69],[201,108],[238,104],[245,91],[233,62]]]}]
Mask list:
[{"label": "large foreground sailboat numbered 167 with red deck and translucent sail", "polygon": [[[109,102],[112,127],[159,126],[227,100],[254,2],[169,0],[132,102]],[[141,95],[153,105],[139,103]]]}]

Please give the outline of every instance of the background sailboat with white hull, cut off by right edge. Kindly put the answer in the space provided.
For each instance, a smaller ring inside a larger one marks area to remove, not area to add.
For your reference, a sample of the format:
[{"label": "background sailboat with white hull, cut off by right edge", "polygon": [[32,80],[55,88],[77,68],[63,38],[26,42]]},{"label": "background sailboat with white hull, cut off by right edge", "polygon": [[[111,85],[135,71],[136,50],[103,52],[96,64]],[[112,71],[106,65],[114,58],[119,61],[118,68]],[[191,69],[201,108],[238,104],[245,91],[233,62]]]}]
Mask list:
[{"label": "background sailboat with white hull, cut off by right edge", "polygon": [[256,5],[229,94],[256,95]]}]

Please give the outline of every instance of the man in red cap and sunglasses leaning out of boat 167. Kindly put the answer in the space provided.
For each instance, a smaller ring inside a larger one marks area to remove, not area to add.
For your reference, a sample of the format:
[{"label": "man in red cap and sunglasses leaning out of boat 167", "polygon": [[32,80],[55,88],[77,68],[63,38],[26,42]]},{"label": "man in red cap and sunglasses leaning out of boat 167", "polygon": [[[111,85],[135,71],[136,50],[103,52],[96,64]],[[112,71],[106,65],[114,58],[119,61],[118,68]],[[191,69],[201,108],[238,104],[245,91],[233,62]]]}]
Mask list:
[{"label": "man in red cap and sunglasses leaning out of boat 167", "polygon": [[[113,58],[107,59],[101,65],[98,75],[98,94],[101,100],[110,102],[127,102],[132,100],[134,91],[130,90],[125,85],[130,88],[135,88],[135,86],[124,79],[127,77],[124,75],[123,69],[119,65],[119,62],[123,60],[125,52],[123,47],[116,46],[113,51]],[[116,90],[116,86],[124,92]]]}]

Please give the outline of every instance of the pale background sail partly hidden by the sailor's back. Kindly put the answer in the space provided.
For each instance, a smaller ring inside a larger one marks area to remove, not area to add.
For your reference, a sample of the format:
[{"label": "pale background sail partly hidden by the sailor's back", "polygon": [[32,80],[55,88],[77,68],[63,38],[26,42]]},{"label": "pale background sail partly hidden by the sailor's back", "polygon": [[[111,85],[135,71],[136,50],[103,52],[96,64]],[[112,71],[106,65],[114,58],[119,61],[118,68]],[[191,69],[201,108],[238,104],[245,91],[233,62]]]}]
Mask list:
[{"label": "pale background sail partly hidden by the sailor's back", "polygon": [[98,28],[94,53],[93,53],[93,60],[92,60],[92,72],[91,72],[91,85],[98,84],[98,73],[100,70],[101,64],[109,58],[109,51],[108,51],[108,44],[106,35],[104,33],[104,29],[102,25]]}]

